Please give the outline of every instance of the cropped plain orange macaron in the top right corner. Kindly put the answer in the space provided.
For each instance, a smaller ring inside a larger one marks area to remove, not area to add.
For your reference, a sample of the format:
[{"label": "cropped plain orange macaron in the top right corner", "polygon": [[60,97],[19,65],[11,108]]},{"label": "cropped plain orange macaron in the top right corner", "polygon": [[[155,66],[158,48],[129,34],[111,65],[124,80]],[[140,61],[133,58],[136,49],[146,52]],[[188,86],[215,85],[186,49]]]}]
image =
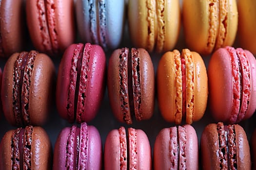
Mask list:
[{"label": "cropped plain orange macaron in the top right corner", "polygon": [[237,9],[239,44],[256,54],[256,0],[238,0]]}]

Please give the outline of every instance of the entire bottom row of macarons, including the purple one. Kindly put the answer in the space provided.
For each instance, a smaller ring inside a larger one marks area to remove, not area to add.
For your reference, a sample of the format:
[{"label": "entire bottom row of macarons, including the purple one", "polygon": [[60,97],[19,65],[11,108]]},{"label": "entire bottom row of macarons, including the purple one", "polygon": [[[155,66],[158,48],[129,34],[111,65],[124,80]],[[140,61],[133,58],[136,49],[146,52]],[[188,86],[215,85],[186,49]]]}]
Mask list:
[{"label": "entire bottom row of macarons, including the purple one", "polygon": [[202,170],[251,170],[252,163],[255,166],[256,162],[256,131],[249,145],[240,125],[208,124],[201,136],[200,153],[196,131],[186,124],[162,129],[153,152],[143,130],[114,129],[106,137],[102,156],[97,128],[83,122],[80,127],[62,129],[52,156],[46,132],[39,126],[29,125],[3,136],[0,169],[197,170],[201,166]]}]

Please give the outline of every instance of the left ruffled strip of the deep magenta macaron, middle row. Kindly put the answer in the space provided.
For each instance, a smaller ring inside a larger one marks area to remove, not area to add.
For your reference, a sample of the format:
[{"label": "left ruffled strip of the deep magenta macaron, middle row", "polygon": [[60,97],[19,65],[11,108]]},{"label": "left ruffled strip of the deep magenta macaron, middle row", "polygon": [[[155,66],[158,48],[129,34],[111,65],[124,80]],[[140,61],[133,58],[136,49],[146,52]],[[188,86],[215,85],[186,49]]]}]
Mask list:
[{"label": "left ruffled strip of the deep magenta macaron, middle row", "polygon": [[72,64],[70,68],[70,82],[67,99],[67,116],[70,122],[74,122],[77,113],[78,103],[78,88],[80,80],[81,61],[83,46],[80,44],[76,46],[73,52]]}]

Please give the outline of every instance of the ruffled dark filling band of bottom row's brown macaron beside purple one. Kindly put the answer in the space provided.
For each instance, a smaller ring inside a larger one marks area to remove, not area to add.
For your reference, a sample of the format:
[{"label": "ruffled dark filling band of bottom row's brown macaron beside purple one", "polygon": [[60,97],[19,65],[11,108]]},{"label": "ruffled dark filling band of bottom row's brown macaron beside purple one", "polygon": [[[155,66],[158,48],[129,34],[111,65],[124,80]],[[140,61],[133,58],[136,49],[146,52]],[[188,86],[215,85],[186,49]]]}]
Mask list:
[{"label": "ruffled dark filling band of bottom row's brown macaron beside purple one", "polygon": [[18,128],[11,138],[12,169],[31,170],[33,126]]}]

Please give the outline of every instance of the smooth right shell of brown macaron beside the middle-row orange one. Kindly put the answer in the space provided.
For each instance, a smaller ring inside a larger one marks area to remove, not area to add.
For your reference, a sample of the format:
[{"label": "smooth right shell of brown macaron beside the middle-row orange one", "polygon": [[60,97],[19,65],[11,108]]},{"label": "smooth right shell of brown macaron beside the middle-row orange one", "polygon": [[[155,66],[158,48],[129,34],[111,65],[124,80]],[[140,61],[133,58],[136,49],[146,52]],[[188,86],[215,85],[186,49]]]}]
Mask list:
[{"label": "smooth right shell of brown macaron beside the middle-row orange one", "polygon": [[154,112],[155,102],[155,76],[153,63],[149,53],[145,49],[139,51],[139,71],[141,88],[142,118],[150,119]]}]

